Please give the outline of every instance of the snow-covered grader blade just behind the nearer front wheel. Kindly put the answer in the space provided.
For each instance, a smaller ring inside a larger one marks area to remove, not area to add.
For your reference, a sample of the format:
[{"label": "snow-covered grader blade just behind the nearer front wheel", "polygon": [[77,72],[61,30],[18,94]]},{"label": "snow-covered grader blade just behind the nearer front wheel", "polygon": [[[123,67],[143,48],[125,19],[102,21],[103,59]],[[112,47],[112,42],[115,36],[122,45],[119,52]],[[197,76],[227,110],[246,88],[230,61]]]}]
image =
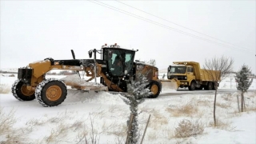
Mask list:
[{"label": "snow-covered grader blade just behind the nearer front wheel", "polygon": [[72,89],[109,91],[107,86],[95,82],[86,82],[86,80],[81,79],[77,74],[67,76],[61,80],[66,84],[66,86],[71,86]]}]

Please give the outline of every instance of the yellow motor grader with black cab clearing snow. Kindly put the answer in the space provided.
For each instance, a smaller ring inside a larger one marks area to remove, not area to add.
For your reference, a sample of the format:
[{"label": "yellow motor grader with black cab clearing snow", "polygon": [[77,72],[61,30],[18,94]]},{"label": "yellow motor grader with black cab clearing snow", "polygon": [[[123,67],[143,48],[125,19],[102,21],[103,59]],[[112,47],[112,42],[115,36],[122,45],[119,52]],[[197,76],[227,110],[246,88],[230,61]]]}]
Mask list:
[{"label": "yellow motor grader with black cab clearing snow", "polygon": [[[149,98],[157,98],[162,90],[158,68],[144,62],[134,62],[136,51],[138,50],[123,49],[117,44],[104,45],[100,50],[89,50],[91,59],[76,59],[74,51],[71,50],[73,59],[46,58],[30,63],[18,69],[18,80],[12,86],[12,93],[20,101],[36,98],[42,106],[58,106],[66,99],[66,86],[78,90],[126,92],[129,79],[136,78],[136,74],[141,73],[150,82],[148,88],[152,94]],[[100,54],[100,59],[96,58],[97,54]],[[85,71],[89,79],[74,81],[72,78],[46,78],[46,73],[50,70]],[[97,83],[96,78],[100,78],[100,83]],[[95,82],[89,82],[93,79]]]}]

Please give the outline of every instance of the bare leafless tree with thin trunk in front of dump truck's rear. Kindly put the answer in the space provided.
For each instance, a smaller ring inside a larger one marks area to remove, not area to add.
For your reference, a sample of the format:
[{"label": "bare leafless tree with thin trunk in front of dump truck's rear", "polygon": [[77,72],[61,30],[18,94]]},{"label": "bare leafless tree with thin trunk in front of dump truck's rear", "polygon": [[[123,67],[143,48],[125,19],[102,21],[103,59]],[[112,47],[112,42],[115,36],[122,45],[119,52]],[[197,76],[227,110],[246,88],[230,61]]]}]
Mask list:
[{"label": "bare leafless tree with thin trunk in front of dump truck's rear", "polygon": [[220,58],[211,58],[205,60],[205,65],[203,66],[206,69],[206,73],[209,75],[210,78],[214,79],[214,126],[217,126],[216,123],[216,96],[219,82],[222,82],[232,70],[232,65],[234,63],[233,58],[226,58],[225,56],[221,56]]}]

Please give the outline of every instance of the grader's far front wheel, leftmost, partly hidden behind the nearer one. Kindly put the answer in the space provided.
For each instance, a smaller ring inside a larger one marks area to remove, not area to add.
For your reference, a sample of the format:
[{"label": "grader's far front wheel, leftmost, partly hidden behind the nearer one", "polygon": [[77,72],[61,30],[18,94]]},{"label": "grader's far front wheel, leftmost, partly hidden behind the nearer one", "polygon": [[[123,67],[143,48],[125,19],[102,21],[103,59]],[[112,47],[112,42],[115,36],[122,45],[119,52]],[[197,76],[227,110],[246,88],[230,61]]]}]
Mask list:
[{"label": "grader's far front wheel, leftmost, partly hidden behind the nearer one", "polygon": [[14,97],[19,101],[32,101],[34,100],[34,90],[28,90],[24,82],[20,79],[16,80],[11,87],[11,92],[13,93]]}]

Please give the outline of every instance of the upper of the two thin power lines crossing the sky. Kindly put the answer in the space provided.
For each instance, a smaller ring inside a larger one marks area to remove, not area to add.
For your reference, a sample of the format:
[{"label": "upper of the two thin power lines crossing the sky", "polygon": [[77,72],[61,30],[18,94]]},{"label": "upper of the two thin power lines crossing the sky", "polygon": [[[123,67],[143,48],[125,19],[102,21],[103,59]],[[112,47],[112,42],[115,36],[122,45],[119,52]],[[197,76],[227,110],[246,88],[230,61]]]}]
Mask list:
[{"label": "upper of the two thin power lines crossing the sky", "polygon": [[[138,8],[136,8],[136,7],[134,7],[134,6],[127,5],[127,4],[124,3],[124,2],[120,2],[120,1],[118,1],[118,0],[115,0],[115,1],[117,1],[117,2],[119,2],[119,3],[122,3],[123,5],[129,6],[129,7],[131,7],[131,8],[134,8],[135,10],[139,10]],[[139,10],[139,11],[141,11],[141,12],[143,12],[143,13],[145,13],[145,14],[149,14],[149,15],[155,17],[155,18],[162,19],[162,20],[164,20],[164,21],[166,21],[166,22],[170,22],[169,20],[166,20],[165,18],[160,18],[160,17],[158,17],[158,16],[156,16],[156,15],[154,15],[154,14],[150,14],[150,13],[144,11],[144,10]],[[214,37],[212,37],[212,36],[210,36],[210,35],[208,35],[208,34],[203,34],[203,33],[201,33],[201,32],[198,32],[197,30],[192,30],[192,29],[190,29],[190,28],[188,28],[188,27],[186,27],[186,26],[179,25],[178,23],[175,23],[175,22],[170,22],[170,23],[172,23],[172,24],[174,24],[174,25],[176,25],[176,26],[180,26],[180,27],[182,27],[182,28],[184,28],[184,29],[186,29],[186,30],[191,30],[191,31],[194,31],[195,33],[202,34],[202,35],[207,36],[207,37],[209,37],[209,38],[213,38],[213,39],[218,40],[218,41],[220,41],[220,42],[225,42],[225,43],[228,43],[228,44],[230,44],[230,45],[232,45],[232,46],[236,46],[236,45],[234,45],[233,43],[226,42],[226,41],[223,41],[223,40],[218,39],[218,38],[214,38]],[[245,47],[242,47],[242,46],[236,46],[236,47],[241,47],[241,48],[243,48],[243,49],[250,50],[250,49],[245,48]]]}]

